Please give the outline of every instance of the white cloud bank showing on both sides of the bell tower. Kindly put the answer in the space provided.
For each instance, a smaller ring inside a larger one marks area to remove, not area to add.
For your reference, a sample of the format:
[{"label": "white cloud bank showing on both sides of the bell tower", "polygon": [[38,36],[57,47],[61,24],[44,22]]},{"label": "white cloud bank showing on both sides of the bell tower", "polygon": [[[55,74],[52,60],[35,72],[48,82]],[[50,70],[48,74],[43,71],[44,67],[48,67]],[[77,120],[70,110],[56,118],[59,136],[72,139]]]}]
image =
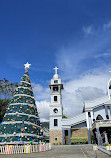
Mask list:
[{"label": "white cloud bank showing on both sides of the bell tower", "polygon": [[[64,82],[64,90],[62,92],[64,115],[70,118],[81,114],[84,101],[106,95],[108,79],[108,74],[100,73],[100,70],[96,70],[95,73],[94,70],[92,73],[87,73],[78,79]],[[50,89],[43,87],[41,89],[42,91],[35,95],[36,105],[41,121],[46,121],[49,120]],[[38,101],[38,98],[40,101]]]}]

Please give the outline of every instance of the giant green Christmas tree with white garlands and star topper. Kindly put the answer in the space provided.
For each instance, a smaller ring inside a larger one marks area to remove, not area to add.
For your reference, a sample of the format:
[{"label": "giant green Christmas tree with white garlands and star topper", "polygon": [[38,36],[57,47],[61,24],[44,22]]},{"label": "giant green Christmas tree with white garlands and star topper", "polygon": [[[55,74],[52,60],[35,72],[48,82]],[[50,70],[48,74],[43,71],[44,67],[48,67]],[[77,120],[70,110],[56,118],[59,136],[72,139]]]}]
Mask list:
[{"label": "giant green Christmas tree with white garlands and star topper", "polygon": [[15,90],[10,105],[7,107],[3,122],[0,124],[1,143],[22,144],[43,141],[40,117],[28,73],[31,64],[24,65],[25,73]]}]

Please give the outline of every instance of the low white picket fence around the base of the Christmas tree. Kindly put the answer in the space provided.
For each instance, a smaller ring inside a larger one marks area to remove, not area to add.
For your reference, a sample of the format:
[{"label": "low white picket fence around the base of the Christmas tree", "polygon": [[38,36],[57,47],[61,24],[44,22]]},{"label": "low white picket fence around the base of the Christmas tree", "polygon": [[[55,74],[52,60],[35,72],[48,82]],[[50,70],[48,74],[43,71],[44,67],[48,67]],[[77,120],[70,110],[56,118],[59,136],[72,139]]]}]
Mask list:
[{"label": "low white picket fence around the base of the Christmas tree", "polygon": [[2,145],[0,146],[0,154],[21,154],[33,153],[51,150],[51,144],[34,144],[34,145]]}]

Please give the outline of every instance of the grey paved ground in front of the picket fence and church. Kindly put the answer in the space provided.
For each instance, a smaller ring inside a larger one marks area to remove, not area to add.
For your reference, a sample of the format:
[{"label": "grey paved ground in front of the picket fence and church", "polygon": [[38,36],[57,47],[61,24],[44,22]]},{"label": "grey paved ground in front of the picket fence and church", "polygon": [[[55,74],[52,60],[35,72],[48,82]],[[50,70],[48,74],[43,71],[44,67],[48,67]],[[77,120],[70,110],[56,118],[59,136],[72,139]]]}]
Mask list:
[{"label": "grey paved ground in front of the picket fence and church", "polygon": [[[52,147],[51,151],[31,154],[0,155],[0,158],[96,158],[92,146]],[[97,158],[109,158],[108,155],[97,151]]]}]

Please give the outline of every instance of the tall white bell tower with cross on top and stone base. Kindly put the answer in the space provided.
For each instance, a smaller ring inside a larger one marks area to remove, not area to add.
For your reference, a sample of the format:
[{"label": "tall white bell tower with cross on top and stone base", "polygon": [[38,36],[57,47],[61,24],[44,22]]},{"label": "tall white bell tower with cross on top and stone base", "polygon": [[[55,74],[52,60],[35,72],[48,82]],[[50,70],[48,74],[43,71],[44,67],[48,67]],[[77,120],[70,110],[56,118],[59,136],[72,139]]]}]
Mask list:
[{"label": "tall white bell tower with cross on top and stone base", "polygon": [[55,67],[55,74],[51,79],[49,85],[51,90],[51,104],[50,104],[50,143],[62,143],[62,94],[63,84],[60,76],[57,74],[58,68]]}]

